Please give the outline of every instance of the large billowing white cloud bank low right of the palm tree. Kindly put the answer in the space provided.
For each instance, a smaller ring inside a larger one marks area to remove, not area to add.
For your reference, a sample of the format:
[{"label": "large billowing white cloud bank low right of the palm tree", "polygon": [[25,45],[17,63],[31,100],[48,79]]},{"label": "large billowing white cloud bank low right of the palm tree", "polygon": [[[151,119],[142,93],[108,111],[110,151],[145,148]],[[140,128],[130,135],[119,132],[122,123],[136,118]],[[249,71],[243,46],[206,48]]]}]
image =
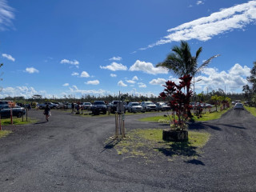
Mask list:
[{"label": "large billowing white cloud bank low right of the palm tree", "polygon": [[[195,78],[195,86],[209,90],[225,89],[226,91],[241,91],[242,86],[248,84],[246,77],[250,75],[250,68],[234,64],[228,71],[218,71],[215,68],[206,68],[202,75]],[[193,80],[192,80],[193,81]],[[198,82],[197,82],[198,81]]]}]

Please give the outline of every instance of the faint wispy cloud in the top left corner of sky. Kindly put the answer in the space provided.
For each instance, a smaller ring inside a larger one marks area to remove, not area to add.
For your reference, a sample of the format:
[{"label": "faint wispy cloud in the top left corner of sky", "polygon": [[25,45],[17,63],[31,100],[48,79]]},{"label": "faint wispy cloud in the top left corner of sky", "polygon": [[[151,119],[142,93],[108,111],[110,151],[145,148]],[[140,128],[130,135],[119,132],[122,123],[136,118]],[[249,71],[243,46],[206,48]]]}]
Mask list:
[{"label": "faint wispy cloud in the top left corner of sky", "polygon": [[6,0],[0,1],[0,30],[6,30],[13,26],[12,19],[15,18],[14,9],[7,5]]}]

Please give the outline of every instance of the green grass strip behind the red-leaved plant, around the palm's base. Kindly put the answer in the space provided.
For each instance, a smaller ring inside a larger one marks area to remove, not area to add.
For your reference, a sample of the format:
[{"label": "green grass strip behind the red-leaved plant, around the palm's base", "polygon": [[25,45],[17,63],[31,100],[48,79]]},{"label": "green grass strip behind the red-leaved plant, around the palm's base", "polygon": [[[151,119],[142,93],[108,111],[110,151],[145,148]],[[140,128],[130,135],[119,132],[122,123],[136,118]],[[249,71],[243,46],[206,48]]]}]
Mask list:
[{"label": "green grass strip behind the red-leaved plant, around the palm's base", "polygon": [[[206,113],[202,114],[202,118],[198,118],[196,116],[194,116],[194,118],[191,118],[192,122],[206,122],[206,121],[210,121],[210,120],[214,120],[214,119],[218,119],[222,117],[222,114],[225,114],[229,109],[226,110],[222,110],[222,111],[218,111],[218,112],[212,112],[209,113],[208,111]],[[169,114],[170,115],[170,114]],[[170,115],[171,117],[171,115]],[[176,119],[177,116],[175,117]],[[173,118],[171,118],[171,121],[173,120]],[[154,117],[149,117],[149,118],[140,118],[139,121],[142,122],[170,122],[170,118],[167,116],[154,116]]]}]

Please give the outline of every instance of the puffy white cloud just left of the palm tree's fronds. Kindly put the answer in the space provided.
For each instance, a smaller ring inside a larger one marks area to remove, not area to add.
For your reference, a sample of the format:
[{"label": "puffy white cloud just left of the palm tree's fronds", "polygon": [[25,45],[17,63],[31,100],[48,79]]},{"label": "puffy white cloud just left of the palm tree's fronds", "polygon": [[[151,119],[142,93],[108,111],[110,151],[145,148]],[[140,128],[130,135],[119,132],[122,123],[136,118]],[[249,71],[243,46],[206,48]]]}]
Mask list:
[{"label": "puffy white cloud just left of the palm tree's fronds", "polygon": [[151,62],[141,62],[137,60],[134,65],[130,66],[131,71],[141,70],[146,74],[167,74],[168,71],[162,67],[154,67]]}]

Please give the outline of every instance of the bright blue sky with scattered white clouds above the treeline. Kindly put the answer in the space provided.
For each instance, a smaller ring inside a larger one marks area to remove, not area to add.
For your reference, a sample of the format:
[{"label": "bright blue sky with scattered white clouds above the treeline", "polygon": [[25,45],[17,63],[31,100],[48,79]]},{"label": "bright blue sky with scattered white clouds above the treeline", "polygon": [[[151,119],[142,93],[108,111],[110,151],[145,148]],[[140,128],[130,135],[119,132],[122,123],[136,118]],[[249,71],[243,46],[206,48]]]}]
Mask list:
[{"label": "bright blue sky with scattered white clouds above the treeline", "polygon": [[0,98],[154,94],[174,74],[154,66],[186,40],[196,92],[241,92],[256,61],[256,1],[0,0]]}]

